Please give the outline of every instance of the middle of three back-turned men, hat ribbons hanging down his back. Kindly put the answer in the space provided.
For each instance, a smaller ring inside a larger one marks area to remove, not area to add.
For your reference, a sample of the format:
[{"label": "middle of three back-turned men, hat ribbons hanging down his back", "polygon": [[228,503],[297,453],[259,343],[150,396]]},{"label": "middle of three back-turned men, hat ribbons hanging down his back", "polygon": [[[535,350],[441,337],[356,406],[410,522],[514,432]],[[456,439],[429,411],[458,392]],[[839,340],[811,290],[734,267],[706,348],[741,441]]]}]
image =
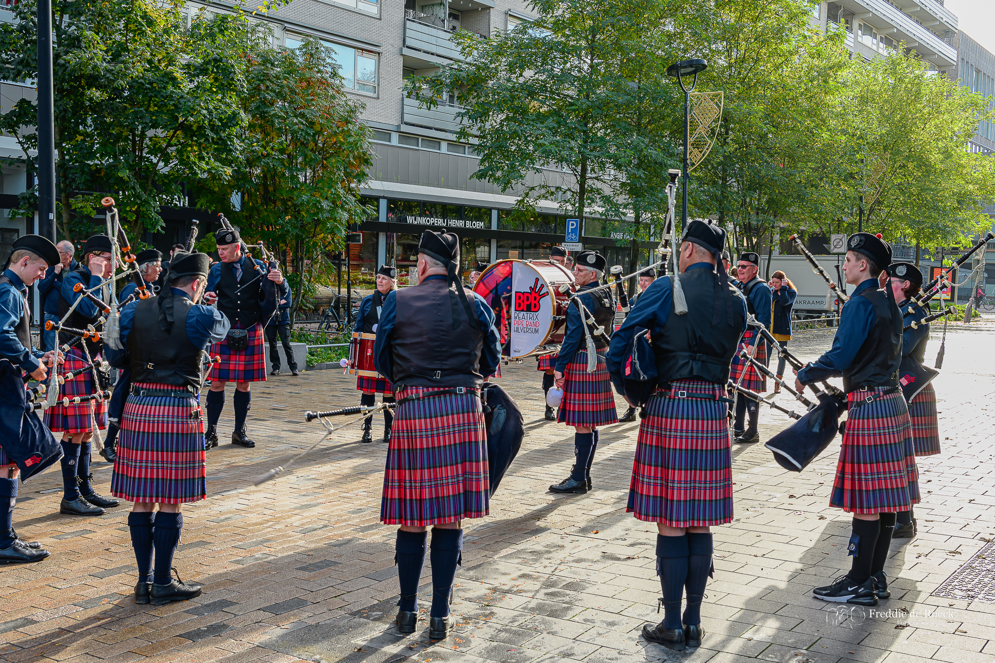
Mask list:
[{"label": "middle of three back-turned men, hat ribbons hanging down his back", "polygon": [[449,604],[462,559],[461,521],[488,515],[490,503],[480,395],[484,377],[497,370],[500,337],[494,311],[460,283],[459,263],[456,235],[422,235],[418,285],[387,295],[373,352],[377,373],[397,398],[380,506],[381,522],[401,526],[397,627],[413,633],[418,623],[431,525],[430,638],[445,638],[455,623]]}]

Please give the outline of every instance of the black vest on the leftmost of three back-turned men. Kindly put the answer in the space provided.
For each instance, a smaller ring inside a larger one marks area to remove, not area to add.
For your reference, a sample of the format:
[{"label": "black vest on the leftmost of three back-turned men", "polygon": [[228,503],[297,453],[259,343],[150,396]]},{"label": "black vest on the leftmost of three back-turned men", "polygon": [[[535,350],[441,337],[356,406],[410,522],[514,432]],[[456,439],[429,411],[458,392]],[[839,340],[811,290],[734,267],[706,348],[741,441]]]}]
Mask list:
[{"label": "black vest on the leftmost of three back-turned men", "polygon": [[157,382],[200,391],[204,351],[186,335],[186,317],[193,302],[173,295],[173,328],[164,332],[159,327],[158,301],[158,297],[149,297],[135,306],[134,322],[127,335],[131,382]]}]

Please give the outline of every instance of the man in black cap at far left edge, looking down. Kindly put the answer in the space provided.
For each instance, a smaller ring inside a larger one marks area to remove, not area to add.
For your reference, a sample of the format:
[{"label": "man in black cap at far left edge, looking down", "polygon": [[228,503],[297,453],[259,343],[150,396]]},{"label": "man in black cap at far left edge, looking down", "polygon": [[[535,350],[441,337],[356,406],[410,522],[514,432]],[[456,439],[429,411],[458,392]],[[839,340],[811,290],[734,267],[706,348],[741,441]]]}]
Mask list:
[{"label": "man in black cap at far left edge, looking down", "polygon": [[[0,359],[41,382],[56,352],[42,352],[31,345],[31,312],[28,288],[45,276],[49,265],[58,264],[59,249],[40,235],[25,235],[14,241],[0,273]],[[49,552],[42,545],[18,538],[14,531],[18,476],[21,470],[7,457],[0,439],[0,564],[41,562]]]}]

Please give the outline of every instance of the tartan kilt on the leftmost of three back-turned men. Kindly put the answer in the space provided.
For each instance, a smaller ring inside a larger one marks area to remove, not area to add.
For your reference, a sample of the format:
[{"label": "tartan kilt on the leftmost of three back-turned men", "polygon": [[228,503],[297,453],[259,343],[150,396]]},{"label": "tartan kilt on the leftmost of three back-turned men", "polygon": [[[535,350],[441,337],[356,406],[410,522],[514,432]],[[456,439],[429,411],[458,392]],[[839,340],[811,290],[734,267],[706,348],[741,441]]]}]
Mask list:
[{"label": "tartan kilt on the leftmost of three back-turned men", "polygon": [[[185,390],[159,383],[135,387]],[[204,417],[193,394],[182,398],[129,394],[117,434],[110,492],[129,502],[180,504],[207,496]]]}]

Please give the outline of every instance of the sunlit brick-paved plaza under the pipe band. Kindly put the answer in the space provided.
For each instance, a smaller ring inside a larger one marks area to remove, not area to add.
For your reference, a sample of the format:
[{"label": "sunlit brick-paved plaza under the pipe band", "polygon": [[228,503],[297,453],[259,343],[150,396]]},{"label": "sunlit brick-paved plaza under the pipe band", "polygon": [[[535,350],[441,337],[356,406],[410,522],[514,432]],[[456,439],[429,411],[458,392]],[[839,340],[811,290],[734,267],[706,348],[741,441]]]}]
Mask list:
[{"label": "sunlit brick-paved plaza under the pipe band", "polygon": [[[930,365],[939,337],[934,329]],[[792,346],[812,359],[830,339],[831,332],[803,332]],[[713,528],[715,576],[702,605],[703,645],[678,653],[642,640],[642,625],[662,614],[656,528],[625,513],[639,424],[603,429],[593,492],[548,493],[569,471],[573,434],[542,419],[540,374],[528,360],[505,367],[498,380],[517,399],[526,435],[491,515],[465,523],[453,603],[457,633],[428,639],[426,559],[425,621],[414,635],[402,636],[392,623],[395,528],[378,522],[385,445],[360,443],[352,426],[293,471],[252,485],[320,437],[319,424],[305,423],[303,411],[358,404],[352,380],[314,371],[254,386],[252,450],[224,443],[231,431],[229,399],[223,443],[208,454],[209,497],[183,510],[175,564],[180,578],[204,584],[193,601],[133,603],[127,506],[100,518],[59,515],[58,465],[22,484],[18,533],[41,541],[52,557],[0,567],[0,659],[995,661],[993,345],[995,324],[951,325],[934,383],[943,453],[919,459],[919,533],[893,542],[886,566],[893,594],[877,608],[811,595],[813,586],[849,569],[851,519],[828,506],[839,438],[802,473],[781,469],[760,444],[734,445],[735,521]],[[787,422],[765,409],[761,438]],[[375,436],[382,425],[377,416]],[[104,495],[110,472],[107,463],[95,463]],[[951,575],[955,581],[944,585]],[[943,595],[934,595],[937,590]]]}]

